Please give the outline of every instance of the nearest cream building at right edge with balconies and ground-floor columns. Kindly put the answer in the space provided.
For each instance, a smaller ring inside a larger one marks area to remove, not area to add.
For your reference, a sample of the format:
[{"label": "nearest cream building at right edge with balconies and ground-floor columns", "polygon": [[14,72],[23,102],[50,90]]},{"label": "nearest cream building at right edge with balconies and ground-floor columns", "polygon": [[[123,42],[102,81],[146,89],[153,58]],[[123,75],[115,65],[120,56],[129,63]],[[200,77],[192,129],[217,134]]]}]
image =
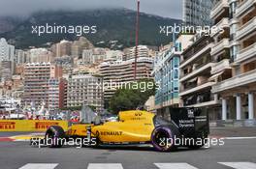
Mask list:
[{"label": "nearest cream building at right edge with balconies and ground-floor columns", "polygon": [[211,91],[221,98],[221,119],[255,119],[256,1],[221,0],[210,17],[225,28],[212,35],[211,51],[218,61],[213,70],[217,83]]}]

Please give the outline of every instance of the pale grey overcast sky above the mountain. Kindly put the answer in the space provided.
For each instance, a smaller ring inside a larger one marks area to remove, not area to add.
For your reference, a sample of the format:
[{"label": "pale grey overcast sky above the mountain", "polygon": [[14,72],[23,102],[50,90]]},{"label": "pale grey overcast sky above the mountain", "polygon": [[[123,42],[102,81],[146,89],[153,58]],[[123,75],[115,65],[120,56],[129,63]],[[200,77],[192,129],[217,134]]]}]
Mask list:
[{"label": "pale grey overcast sky above the mountain", "polygon": [[[182,0],[141,0],[147,14],[180,18]],[[86,10],[124,7],[136,10],[136,0],[0,0],[1,15],[27,15],[41,10]]]}]

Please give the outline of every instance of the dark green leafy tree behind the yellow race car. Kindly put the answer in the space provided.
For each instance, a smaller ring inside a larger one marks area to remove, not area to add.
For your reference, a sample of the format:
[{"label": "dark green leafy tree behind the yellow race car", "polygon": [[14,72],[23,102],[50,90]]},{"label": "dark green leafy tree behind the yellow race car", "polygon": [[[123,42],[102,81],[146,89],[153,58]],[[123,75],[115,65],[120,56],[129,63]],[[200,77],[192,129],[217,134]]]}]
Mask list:
[{"label": "dark green leafy tree behind the yellow race car", "polygon": [[155,89],[154,81],[149,79],[125,84],[110,100],[110,111],[117,114],[119,111],[142,107],[145,101],[155,94]]}]

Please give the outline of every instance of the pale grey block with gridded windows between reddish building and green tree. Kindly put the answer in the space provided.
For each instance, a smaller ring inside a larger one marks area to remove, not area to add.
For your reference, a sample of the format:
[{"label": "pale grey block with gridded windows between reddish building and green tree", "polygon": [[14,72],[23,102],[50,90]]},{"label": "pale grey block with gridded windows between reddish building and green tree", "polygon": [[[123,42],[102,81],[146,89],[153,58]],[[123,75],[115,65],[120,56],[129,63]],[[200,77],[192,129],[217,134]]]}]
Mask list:
[{"label": "pale grey block with gridded windows between reddish building and green tree", "polygon": [[67,107],[83,104],[93,106],[97,112],[103,111],[103,79],[91,74],[74,74],[68,78]]}]

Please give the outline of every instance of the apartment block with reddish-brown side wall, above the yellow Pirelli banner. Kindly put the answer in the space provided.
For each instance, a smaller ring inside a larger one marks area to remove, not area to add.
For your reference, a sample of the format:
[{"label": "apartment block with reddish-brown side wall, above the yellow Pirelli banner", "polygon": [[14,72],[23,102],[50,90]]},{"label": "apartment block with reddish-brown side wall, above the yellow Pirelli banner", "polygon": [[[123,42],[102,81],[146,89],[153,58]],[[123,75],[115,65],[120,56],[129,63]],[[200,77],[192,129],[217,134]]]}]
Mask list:
[{"label": "apartment block with reddish-brown side wall, above the yellow Pirelli banner", "polygon": [[[22,105],[33,103],[35,108],[41,107],[45,102],[45,107],[56,107],[57,103],[52,99],[53,93],[59,94],[59,107],[63,105],[62,96],[64,90],[62,87],[53,88],[52,79],[59,80],[62,77],[61,67],[51,65],[50,63],[31,63],[24,67],[24,94],[22,96]],[[61,84],[58,82],[58,84]],[[56,84],[54,84],[56,85]],[[54,94],[55,95],[55,94]]]}]

